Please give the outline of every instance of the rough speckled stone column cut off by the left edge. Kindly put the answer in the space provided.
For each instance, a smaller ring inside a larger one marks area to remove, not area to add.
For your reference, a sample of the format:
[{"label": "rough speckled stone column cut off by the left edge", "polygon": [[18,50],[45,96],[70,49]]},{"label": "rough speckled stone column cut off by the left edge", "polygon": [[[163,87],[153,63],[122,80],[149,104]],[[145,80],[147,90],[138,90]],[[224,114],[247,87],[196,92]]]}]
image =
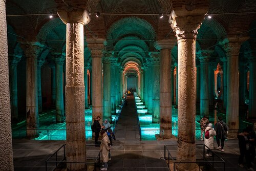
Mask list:
[{"label": "rough speckled stone column cut off by the left edge", "polygon": [[8,43],[6,1],[0,1],[0,166],[1,170],[13,170],[11,106],[8,72]]}]

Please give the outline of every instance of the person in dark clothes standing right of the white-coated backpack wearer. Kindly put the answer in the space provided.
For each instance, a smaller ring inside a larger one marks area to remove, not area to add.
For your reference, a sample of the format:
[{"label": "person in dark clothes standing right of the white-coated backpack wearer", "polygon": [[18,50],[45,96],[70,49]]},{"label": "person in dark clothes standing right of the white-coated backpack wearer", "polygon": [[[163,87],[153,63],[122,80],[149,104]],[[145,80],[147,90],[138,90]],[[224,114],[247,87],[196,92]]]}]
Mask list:
[{"label": "person in dark clothes standing right of the white-coated backpack wearer", "polygon": [[[222,120],[223,118],[221,116],[218,117],[219,121],[215,123],[214,129],[216,131],[216,141],[218,144],[217,149],[220,149],[222,152],[224,152],[224,141],[227,138],[226,133],[228,131],[227,124]],[[220,145],[221,140],[221,145]]]}]

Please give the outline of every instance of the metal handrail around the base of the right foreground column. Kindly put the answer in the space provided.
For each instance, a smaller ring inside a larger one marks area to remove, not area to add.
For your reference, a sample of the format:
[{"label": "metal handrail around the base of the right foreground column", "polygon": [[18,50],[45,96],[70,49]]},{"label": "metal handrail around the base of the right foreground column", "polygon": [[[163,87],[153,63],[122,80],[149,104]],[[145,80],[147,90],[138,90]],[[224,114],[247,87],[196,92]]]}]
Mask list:
[{"label": "metal handrail around the base of the right foreground column", "polygon": [[[218,156],[215,152],[213,152],[213,151],[211,151],[211,149],[209,149],[209,147],[208,146],[206,146],[206,145],[204,145],[204,144],[196,144],[196,145],[202,145],[203,146],[203,156],[202,156],[202,158],[199,158],[199,157],[197,157],[197,159],[203,159],[204,161],[196,161],[196,162],[188,162],[188,161],[182,161],[182,162],[176,162],[175,160],[175,158],[170,154],[170,151],[169,151],[169,149],[167,148],[167,146],[177,146],[177,144],[167,144],[167,145],[164,145],[164,159],[165,159],[165,161],[166,160],[168,160],[168,167],[169,167],[169,169],[170,169],[170,160],[172,160],[173,161],[173,163],[174,163],[174,170],[176,170],[176,165],[178,164],[178,163],[207,163],[207,164],[209,164],[212,168],[214,168],[214,164],[215,163],[223,163],[223,169],[224,169],[224,171],[225,171],[225,169],[226,169],[226,162],[225,162],[225,160],[224,159],[222,159],[220,156]],[[205,147],[206,148],[208,148],[209,150],[210,150],[210,152],[211,152],[211,154],[212,154],[212,156],[211,156],[211,158],[212,158],[212,161],[207,161],[207,160],[205,160]],[[168,158],[166,158],[166,150],[167,150],[167,152],[168,152]],[[218,158],[218,159],[220,159],[221,161],[214,161],[214,159],[215,159],[215,156]],[[199,167],[199,170],[200,170],[200,167]]]}]

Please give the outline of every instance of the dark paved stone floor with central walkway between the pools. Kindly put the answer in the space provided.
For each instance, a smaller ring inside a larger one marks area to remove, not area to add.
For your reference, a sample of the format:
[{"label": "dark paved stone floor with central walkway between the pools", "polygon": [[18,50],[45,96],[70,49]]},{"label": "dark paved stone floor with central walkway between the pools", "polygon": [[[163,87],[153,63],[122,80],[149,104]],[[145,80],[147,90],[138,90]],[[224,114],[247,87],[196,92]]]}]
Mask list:
[{"label": "dark paved stone floor with central walkway between the pools", "polygon": [[[127,96],[127,105],[123,106],[121,115],[115,127],[116,141],[111,148],[112,160],[108,170],[169,170],[164,160],[164,145],[176,144],[176,140],[140,141],[138,118],[133,96]],[[95,157],[99,147],[94,141],[87,143],[87,157]],[[48,140],[13,140],[14,170],[46,170],[46,160],[57,151],[65,141]],[[197,141],[197,144],[203,144]],[[200,145],[198,145],[200,146]],[[215,142],[215,146],[217,146]],[[170,149],[176,157],[176,149]],[[246,170],[238,167],[238,140],[226,140],[224,152],[214,149],[214,152],[225,160],[225,170]],[[204,156],[202,147],[197,147],[197,157]],[[212,160],[211,157],[206,158]],[[216,160],[216,159],[215,159]],[[253,166],[256,169],[255,166]],[[51,165],[47,170],[53,170]],[[100,168],[97,168],[100,169]],[[210,170],[201,168],[201,170]],[[222,165],[216,164],[216,170],[224,170]]]}]

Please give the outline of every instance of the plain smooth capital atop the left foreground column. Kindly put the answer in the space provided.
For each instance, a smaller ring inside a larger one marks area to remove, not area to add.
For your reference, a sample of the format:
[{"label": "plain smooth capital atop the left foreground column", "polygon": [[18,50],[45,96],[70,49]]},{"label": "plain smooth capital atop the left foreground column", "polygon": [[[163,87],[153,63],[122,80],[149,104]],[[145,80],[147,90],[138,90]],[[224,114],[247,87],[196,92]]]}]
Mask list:
[{"label": "plain smooth capital atop the left foreground column", "polygon": [[82,8],[76,7],[59,7],[57,13],[63,23],[81,23],[82,25],[87,25],[90,21],[89,12]]}]

